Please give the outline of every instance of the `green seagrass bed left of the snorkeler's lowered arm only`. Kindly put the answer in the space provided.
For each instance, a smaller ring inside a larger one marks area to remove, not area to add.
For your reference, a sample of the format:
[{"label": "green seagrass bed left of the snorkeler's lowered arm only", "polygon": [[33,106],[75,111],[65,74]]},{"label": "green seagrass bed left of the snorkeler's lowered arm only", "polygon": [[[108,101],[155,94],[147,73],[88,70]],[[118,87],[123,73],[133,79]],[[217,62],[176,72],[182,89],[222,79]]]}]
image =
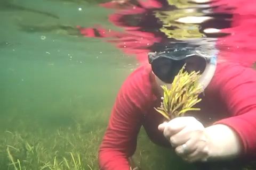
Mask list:
[{"label": "green seagrass bed left of the snorkeler's lowered arm only", "polygon": [[51,135],[6,131],[0,141],[0,169],[98,169],[102,132],[84,132],[79,124]]}]

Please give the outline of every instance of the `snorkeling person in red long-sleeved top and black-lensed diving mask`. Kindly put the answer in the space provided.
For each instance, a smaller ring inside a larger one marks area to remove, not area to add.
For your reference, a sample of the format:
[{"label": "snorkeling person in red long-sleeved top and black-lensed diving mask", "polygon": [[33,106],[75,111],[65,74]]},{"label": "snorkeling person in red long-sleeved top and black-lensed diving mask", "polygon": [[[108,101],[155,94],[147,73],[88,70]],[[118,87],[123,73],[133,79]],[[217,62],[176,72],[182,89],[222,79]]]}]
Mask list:
[{"label": "snorkeling person in red long-sleeved top and black-lensed diving mask", "polygon": [[[150,64],[135,70],[118,93],[99,149],[100,169],[130,169],[127,158],[134,154],[141,126],[151,141],[173,147],[187,162],[255,155],[255,70],[235,63],[217,64],[214,55],[190,49],[149,53],[148,59]],[[184,63],[187,71],[202,73],[205,90],[197,106],[201,111],[164,122],[154,109],[163,96],[159,87],[170,86]]]}]

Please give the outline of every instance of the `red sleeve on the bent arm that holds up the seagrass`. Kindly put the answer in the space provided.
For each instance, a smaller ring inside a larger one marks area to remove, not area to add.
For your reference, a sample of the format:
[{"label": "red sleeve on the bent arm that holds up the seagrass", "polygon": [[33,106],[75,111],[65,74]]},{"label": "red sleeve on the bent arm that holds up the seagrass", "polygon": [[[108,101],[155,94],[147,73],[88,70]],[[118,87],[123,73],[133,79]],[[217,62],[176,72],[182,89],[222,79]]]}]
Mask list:
[{"label": "red sleeve on the bent arm that holds up the seagrass", "polygon": [[256,153],[256,71],[240,65],[221,65],[215,84],[231,117],[218,121],[230,126],[241,139],[244,154]]}]

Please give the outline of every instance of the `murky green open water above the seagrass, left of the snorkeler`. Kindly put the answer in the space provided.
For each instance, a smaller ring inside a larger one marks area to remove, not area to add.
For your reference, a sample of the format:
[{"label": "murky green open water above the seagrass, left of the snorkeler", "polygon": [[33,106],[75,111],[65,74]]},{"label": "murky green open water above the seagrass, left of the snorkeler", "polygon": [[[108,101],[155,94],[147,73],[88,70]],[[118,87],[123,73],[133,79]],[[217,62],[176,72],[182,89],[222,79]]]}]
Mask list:
[{"label": "murky green open water above the seagrass, left of the snorkeler", "polygon": [[[71,36],[61,29],[24,31],[21,26],[75,27],[95,22],[90,17],[108,24],[108,11],[87,3],[17,4],[60,19],[26,9],[1,10],[1,126],[10,128],[21,118],[47,126],[67,125],[78,114],[109,110],[122,81],[134,68],[134,58],[123,57],[101,40]],[[79,6],[85,9],[78,11]],[[104,114],[109,115],[108,111]]]}]

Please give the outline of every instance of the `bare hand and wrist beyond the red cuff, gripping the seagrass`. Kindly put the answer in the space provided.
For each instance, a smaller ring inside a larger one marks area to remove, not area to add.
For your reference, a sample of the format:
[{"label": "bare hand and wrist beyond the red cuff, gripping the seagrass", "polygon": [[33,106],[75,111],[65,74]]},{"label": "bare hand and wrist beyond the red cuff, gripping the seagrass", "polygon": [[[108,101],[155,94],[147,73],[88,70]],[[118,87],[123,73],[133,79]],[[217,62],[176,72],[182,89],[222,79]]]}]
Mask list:
[{"label": "bare hand and wrist beyond the red cuff, gripping the seagrass", "polygon": [[194,117],[178,117],[158,129],[170,140],[177,155],[188,162],[232,158],[241,152],[236,133],[226,125],[204,128]]}]

